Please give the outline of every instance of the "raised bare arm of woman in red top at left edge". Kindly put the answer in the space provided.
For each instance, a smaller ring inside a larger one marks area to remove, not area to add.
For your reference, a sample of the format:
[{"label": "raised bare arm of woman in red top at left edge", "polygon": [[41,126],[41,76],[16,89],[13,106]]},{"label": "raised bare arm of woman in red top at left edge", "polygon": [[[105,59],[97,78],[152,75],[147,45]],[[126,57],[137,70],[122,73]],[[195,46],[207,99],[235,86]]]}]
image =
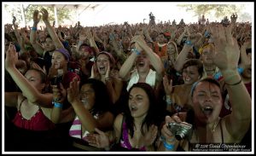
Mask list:
[{"label": "raised bare arm of woman in red top at left edge", "polygon": [[51,107],[52,94],[42,94],[33,87],[15,67],[16,61],[18,61],[18,55],[15,50],[15,45],[10,44],[6,53],[5,69],[9,72],[10,76],[14,79],[15,84],[19,86],[22,94],[26,96],[28,101],[37,104],[40,107]]}]

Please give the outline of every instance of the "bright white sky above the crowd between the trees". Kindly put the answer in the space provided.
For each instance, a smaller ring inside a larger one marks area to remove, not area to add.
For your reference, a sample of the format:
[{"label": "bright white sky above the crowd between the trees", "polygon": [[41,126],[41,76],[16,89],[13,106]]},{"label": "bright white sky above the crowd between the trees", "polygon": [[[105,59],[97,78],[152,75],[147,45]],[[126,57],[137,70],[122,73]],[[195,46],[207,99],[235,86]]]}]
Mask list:
[{"label": "bright white sky above the crowd between the trees", "polygon": [[[92,2],[90,2],[92,3]],[[79,4],[90,4],[90,3],[79,3]],[[17,4],[17,3],[16,3]],[[33,4],[33,3],[23,3],[24,5]],[[40,3],[44,4],[44,3]],[[50,3],[45,3],[50,4]],[[52,3],[54,4],[54,3]],[[56,4],[56,3],[55,3]],[[78,3],[59,3],[59,4],[78,4]],[[67,25],[76,23],[78,20],[81,22],[82,26],[99,26],[105,25],[109,23],[117,23],[121,24],[124,21],[128,21],[129,23],[139,23],[149,21],[148,14],[152,12],[155,16],[155,21],[168,21],[168,20],[176,20],[179,22],[181,19],[185,21],[185,23],[196,22],[198,21],[197,16],[193,16],[194,14],[191,12],[186,12],[185,9],[178,8],[177,4],[184,3],[93,3],[100,4],[96,9],[86,9],[83,14],[79,15],[79,18],[73,17],[72,20],[67,20]],[[188,3],[186,3],[188,4]],[[192,3],[195,4],[195,3]],[[230,3],[228,3],[230,4]],[[231,3],[233,4],[233,3]],[[235,3],[234,3],[235,4]],[[253,17],[253,3],[236,3],[236,4],[247,4],[245,11],[248,14],[251,14]],[[3,8],[4,10],[4,8]],[[82,12],[83,10],[78,10],[78,12]],[[6,14],[5,11],[3,23],[11,23],[11,16]],[[229,16],[231,14],[228,14]],[[145,19],[145,20],[143,20]],[[32,25],[32,24],[29,24]]]}]

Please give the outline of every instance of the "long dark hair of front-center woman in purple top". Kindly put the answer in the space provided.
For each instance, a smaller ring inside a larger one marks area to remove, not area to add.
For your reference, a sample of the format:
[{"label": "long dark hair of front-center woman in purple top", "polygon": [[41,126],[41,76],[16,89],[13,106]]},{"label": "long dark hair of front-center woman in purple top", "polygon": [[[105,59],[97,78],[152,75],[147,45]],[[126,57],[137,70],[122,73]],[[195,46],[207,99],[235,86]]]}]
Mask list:
[{"label": "long dark hair of front-center woman in purple top", "polygon": [[[160,118],[160,109],[158,108],[158,103],[156,101],[156,96],[154,95],[154,90],[153,88],[146,83],[137,83],[133,84],[131,86],[131,89],[128,91],[128,95],[130,95],[131,90],[134,88],[140,88],[143,89],[146,94],[148,95],[148,101],[149,101],[149,107],[148,107],[148,113],[146,117],[143,119],[143,124],[141,126],[141,132],[144,135],[143,131],[143,125],[147,125],[147,129],[149,128],[150,125],[155,124],[158,125],[160,124],[158,118]],[[129,109],[129,101],[127,101],[127,104],[125,105],[125,123],[127,125],[127,129],[129,130],[129,133],[131,137],[134,135],[134,118],[131,117],[131,112]]]}]

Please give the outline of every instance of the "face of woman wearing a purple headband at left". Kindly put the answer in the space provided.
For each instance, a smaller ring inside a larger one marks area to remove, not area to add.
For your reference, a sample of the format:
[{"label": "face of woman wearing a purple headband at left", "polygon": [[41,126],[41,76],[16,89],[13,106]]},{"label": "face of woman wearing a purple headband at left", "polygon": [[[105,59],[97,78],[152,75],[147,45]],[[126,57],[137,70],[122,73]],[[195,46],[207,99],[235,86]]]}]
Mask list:
[{"label": "face of woman wearing a purple headband at left", "polygon": [[51,66],[55,69],[62,69],[64,66],[67,66],[67,60],[64,55],[59,51],[54,51],[51,57]]}]

